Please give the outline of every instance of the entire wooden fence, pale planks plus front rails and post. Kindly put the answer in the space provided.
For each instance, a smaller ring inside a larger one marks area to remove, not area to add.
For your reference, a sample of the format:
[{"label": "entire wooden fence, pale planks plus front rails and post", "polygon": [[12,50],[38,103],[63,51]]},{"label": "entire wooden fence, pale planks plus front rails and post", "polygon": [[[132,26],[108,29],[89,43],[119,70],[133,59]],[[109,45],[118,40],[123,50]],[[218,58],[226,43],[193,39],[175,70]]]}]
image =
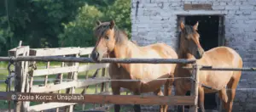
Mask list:
[{"label": "entire wooden fence, pale planks plus front rails and post", "polygon": [[[66,90],[63,95],[75,94],[75,88],[83,87],[84,98],[86,100],[39,100],[43,104],[30,105],[32,99],[19,99],[15,103],[15,111],[42,111],[45,109],[56,109],[66,107],[69,112],[73,111],[75,104],[168,104],[168,105],[190,105],[191,111],[197,111],[198,87],[194,83],[191,89],[191,96],[137,96],[137,95],[109,95],[108,93],[108,63],[151,63],[151,64],[177,64],[177,63],[195,63],[195,60],[183,59],[103,59],[99,63],[103,64],[79,64],[78,62],[95,63],[91,59],[79,58],[83,55],[90,55],[92,48],[29,48],[28,46],[14,48],[9,50],[9,55],[15,59],[0,58],[1,60],[15,61],[15,92],[0,92],[0,98],[12,100],[10,94],[34,95],[57,95],[61,90]],[[56,58],[50,56],[63,56],[65,58]],[[73,56],[68,57],[67,56]],[[48,60],[46,69],[38,70],[35,67],[37,61]],[[61,62],[61,67],[49,68],[50,60]],[[60,61],[61,60],[61,61]],[[29,65],[31,63],[31,65]],[[195,68],[195,82],[198,82],[197,65]],[[196,69],[197,68],[197,69]],[[102,69],[102,76],[89,78],[84,76],[84,81],[78,81],[78,73]],[[67,77],[64,75],[67,74]],[[58,82],[49,83],[49,76],[57,75]],[[33,80],[39,76],[44,76],[44,84],[35,85]],[[96,85],[96,92],[93,95],[87,94],[86,88],[90,85]],[[101,85],[100,92],[97,92],[98,85]],[[79,93],[81,95],[81,93]],[[38,102],[38,101],[37,101]],[[55,102],[55,103],[53,103]],[[56,103],[58,102],[58,103]],[[61,102],[61,103],[60,103]],[[102,105],[101,105],[102,106]],[[96,109],[96,107],[95,107]]]}]

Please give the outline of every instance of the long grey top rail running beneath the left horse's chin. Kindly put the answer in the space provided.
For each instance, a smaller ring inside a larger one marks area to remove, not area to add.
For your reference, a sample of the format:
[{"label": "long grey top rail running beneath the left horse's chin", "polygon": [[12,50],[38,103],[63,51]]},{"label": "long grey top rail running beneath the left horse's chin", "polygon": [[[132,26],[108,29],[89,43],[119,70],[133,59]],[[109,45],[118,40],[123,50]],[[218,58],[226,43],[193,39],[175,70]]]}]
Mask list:
[{"label": "long grey top rail running beneath the left horse's chin", "polygon": [[59,56],[20,56],[17,58],[0,57],[0,61],[58,61],[58,62],[80,62],[80,63],[146,63],[146,64],[194,64],[195,60],[188,59],[113,59],[103,58],[101,61],[94,61],[90,58],[59,57]]}]

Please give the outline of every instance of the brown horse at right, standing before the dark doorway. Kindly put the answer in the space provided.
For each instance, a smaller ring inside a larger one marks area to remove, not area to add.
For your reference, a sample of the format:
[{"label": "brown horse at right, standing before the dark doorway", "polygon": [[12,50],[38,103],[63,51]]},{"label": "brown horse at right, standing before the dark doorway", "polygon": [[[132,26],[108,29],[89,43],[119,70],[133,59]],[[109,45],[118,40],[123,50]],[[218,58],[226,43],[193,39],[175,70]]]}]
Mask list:
[{"label": "brown horse at right, standing before the dark doorway", "polygon": [[[212,48],[204,52],[199,42],[200,35],[197,32],[198,22],[194,25],[180,24],[180,45],[178,59],[197,59],[199,65],[210,65],[212,67],[242,68],[241,56],[235,50],[227,47]],[[191,65],[191,64],[190,64]],[[174,75],[177,77],[191,76],[191,70],[183,69],[189,64],[177,64]],[[219,98],[223,101],[224,109],[231,112],[236,94],[236,87],[241,77],[241,71],[219,71],[200,70],[199,81],[213,89],[208,89],[199,85],[199,102],[201,111],[204,109],[204,93],[218,92]],[[191,88],[191,81],[176,80],[176,95],[185,95]],[[227,86],[228,94],[226,92]]]}]

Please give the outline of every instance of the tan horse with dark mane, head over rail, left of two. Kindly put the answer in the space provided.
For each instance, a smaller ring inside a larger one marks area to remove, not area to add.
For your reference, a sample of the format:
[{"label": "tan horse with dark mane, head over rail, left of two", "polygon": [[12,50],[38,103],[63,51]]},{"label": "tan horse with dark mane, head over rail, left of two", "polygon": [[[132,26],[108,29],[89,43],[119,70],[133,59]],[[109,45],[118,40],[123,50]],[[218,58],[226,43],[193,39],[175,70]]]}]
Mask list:
[{"label": "tan horse with dark mane, head over rail, left of two", "polygon": [[[120,31],[114,21],[97,22],[95,31],[98,37],[91,58],[100,61],[104,54],[118,59],[177,59],[177,53],[164,43],[156,43],[146,47],[139,47],[129,41],[124,31]],[[113,95],[119,95],[120,87],[129,89],[135,95],[143,92],[154,92],[162,95],[160,87],[165,85],[165,95],[170,95],[172,80],[155,80],[158,78],[172,78],[176,64],[110,64],[111,79],[131,79],[140,81],[112,81]],[[120,105],[115,104],[115,112],[119,112]],[[160,106],[160,111],[166,111],[167,105]],[[134,105],[134,110],[140,112],[140,105]]]}]

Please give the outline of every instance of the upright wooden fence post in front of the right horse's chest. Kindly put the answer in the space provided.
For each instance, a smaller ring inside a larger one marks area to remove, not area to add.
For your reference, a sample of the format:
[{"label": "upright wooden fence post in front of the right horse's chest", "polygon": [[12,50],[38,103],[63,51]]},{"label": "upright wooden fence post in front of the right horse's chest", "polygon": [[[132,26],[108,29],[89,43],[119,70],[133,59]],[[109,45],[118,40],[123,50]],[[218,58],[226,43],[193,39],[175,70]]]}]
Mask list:
[{"label": "upright wooden fence post in front of the right horse's chest", "polygon": [[197,103],[198,103],[198,84],[199,84],[199,67],[197,64],[193,64],[193,80],[191,87],[191,96],[195,96],[195,105],[190,106],[189,112],[197,112]]}]

